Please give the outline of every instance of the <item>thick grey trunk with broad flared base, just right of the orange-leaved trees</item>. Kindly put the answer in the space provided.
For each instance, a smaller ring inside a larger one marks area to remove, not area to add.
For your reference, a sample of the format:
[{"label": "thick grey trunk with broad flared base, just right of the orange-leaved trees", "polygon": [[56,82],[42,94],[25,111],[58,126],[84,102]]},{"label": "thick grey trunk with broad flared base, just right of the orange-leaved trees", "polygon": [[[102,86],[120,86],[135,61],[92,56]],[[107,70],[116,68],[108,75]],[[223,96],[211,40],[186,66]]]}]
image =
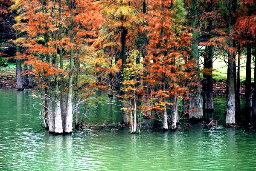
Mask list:
[{"label": "thick grey trunk with broad flared base, just right of the orange-leaved trees", "polygon": [[[195,60],[195,83],[200,83],[200,76],[199,76],[199,62],[198,62],[198,32],[197,24],[198,24],[198,14],[197,14],[197,7],[198,7],[198,0],[192,0],[192,19],[191,19],[191,26],[192,26],[192,52],[191,57]],[[202,97],[201,97],[201,87],[200,85],[192,85],[191,87],[191,97],[189,100],[189,118],[202,118],[203,117],[203,106],[202,106]]]}]

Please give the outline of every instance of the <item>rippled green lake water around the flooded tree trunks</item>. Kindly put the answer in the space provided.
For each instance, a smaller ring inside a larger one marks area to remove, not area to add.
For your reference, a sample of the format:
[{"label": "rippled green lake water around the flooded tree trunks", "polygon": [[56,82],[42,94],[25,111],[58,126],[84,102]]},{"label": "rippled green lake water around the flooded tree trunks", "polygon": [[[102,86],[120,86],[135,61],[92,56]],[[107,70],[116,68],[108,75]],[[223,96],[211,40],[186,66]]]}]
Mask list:
[{"label": "rippled green lake water around the flooded tree trunks", "polygon": [[[0,90],[0,171],[253,171],[256,129],[191,128],[169,132],[127,128],[84,129],[54,136],[41,128],[29,92]],[[215,97],[210,117],[224,121],[225,98]],[[241,117],[243,118],[243,117]],[[115,105],[91,111],[87,123],[121,120]]]}]

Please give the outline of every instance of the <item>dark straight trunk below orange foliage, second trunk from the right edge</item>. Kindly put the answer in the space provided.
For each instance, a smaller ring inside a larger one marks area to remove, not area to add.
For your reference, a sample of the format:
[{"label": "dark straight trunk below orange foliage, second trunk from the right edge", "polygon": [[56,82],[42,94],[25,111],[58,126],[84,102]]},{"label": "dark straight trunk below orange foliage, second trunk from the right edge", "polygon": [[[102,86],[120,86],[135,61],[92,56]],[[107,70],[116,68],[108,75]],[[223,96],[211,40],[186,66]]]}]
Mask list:
[{"label": "dark straight trunk below orange foliage, second trunk from the right edge", "polygon": [[245,100],[244,107],[252,107],[252,89],[251,89],[251,47],[250,43],[247,43],[246,52],[246,78],[245,78]]}]

